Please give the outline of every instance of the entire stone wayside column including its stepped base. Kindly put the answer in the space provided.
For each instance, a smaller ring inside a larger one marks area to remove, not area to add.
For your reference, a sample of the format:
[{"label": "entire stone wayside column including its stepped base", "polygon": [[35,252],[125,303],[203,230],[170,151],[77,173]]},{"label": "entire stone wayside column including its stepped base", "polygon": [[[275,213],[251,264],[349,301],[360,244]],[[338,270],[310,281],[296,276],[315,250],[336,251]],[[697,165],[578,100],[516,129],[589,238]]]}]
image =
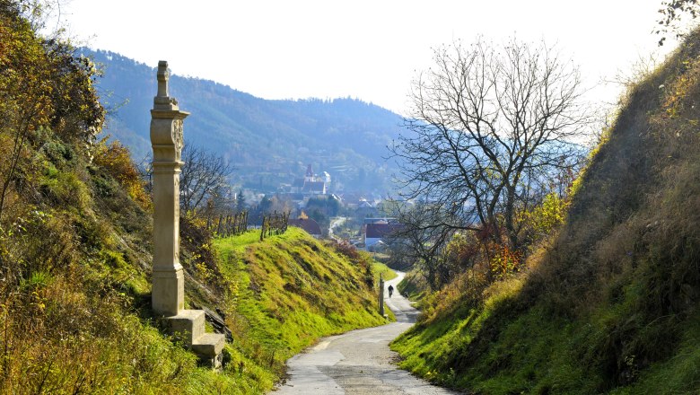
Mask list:
[{"label": "entire stone wayside column including its stepped base", "polygon": [[171,333],[213,367],[221,367],[225,337],[205,333],[205,312],[184,310],[185,279],[179,264],[179,173],[184,145],[178,101],[168,92],[168,62],[158,62],[158,94],[151,110],[153,145],[153,311]]}]

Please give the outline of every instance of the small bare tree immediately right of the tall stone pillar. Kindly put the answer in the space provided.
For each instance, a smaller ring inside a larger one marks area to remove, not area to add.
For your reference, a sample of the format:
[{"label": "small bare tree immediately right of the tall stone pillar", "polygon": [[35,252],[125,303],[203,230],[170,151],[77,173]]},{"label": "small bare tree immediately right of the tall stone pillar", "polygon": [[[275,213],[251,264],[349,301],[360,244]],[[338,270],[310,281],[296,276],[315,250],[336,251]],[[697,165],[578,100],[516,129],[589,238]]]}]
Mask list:
[{"label": "small bare tree immediately right of the tall stone pillar", "polygon": [[193,145],[185,145],[181,154],[182,172],[179,178],[179,204],[184,212],[206,205],[217,198],[228,185],[232,165],[222,156]]}]

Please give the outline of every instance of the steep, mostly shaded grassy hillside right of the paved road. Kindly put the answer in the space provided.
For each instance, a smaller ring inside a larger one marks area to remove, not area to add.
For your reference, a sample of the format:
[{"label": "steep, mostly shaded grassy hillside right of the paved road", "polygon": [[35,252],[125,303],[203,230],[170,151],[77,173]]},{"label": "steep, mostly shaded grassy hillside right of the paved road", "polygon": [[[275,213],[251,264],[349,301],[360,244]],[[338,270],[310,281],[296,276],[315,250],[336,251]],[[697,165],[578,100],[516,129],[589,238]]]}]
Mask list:
[{"label": "steep, mostly shaded grassy hillside right of the paved road", "polygon": [[393,347],[477,393],[700,391],[700,33],[630,88],[564,226],[483,294],[458,278]]}]

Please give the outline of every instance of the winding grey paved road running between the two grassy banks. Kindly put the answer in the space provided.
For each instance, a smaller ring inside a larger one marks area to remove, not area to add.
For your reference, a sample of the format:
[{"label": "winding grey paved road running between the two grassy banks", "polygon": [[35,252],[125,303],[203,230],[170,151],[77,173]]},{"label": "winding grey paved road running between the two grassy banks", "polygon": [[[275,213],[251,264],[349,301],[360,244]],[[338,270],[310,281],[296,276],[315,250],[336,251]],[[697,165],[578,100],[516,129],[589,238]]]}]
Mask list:
[{"label": "winding grey paved road running between the two grassy banks", "polygon": [[[387,281],[396,285],[404,274]],[[323,338],[315,347],[287,361],[290,377],[275,395],[342,394],[454,394],[412,376],[392,364],[398,354],[389,350],[389,342],[416,322],[418,311],[398,293],[384,300],[397,322],[381,327],[359,329]]]}]

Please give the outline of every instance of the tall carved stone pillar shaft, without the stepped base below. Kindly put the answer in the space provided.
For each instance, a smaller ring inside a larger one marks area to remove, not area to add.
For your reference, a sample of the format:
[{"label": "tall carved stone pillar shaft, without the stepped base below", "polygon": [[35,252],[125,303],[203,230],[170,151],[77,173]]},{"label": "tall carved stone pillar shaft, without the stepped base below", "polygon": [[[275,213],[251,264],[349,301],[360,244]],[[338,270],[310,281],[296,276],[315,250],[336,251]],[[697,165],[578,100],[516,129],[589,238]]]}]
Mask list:
[{"label": "tall carved stone pillar shaft, without the stepped base below", "polygon": [[153,311],[177,315],[185,307],[185,284],[179,264],[179,173],[183,147],[178,101],[168,93],[168,62],[158,62],[158,95],[151,110],[153,145]]}]

